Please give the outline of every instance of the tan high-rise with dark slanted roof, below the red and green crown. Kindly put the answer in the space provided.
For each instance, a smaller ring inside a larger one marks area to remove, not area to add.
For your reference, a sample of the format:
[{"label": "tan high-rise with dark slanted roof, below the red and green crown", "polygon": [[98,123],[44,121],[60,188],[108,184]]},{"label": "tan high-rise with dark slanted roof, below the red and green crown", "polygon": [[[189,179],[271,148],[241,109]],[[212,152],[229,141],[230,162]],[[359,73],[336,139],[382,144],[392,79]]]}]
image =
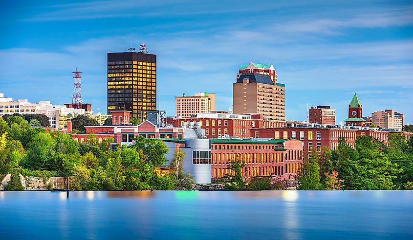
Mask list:
[{"label": "tan high-rise with dark slanted roof, below the red and green crown", "polygon": [[270,76],[243,73],[233,84],[235,114],[261,113],[263,120],[285,121],[285,85]]}]

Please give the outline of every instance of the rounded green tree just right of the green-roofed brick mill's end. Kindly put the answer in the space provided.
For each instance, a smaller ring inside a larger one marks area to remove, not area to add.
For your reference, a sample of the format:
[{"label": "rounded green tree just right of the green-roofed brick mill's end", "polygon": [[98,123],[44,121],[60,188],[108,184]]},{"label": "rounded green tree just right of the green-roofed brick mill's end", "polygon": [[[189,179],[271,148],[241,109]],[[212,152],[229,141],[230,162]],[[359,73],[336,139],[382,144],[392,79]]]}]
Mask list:
[{"label": "rounded green tree just right of the green-roofed brick mill's end", "polygon": [[304,159],[299,173],[296,177],[298,182],[298,190],[318,190],[320,184],[320,166],[317,163],[317,158],[310,155]]}]

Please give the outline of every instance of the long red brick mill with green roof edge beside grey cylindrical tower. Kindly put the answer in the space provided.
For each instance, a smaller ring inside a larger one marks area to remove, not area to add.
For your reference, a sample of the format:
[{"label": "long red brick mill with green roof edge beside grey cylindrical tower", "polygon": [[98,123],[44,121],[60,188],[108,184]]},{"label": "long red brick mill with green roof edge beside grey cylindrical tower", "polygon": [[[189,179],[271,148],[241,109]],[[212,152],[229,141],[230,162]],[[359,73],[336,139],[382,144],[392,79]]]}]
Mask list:
[{"label": "long red brick mill with green roof edge beside grey cylindrical tower", "polygon": [[303,142],[296,139],[211,141],[213,179],[229,173],[228,163],[236,158],[245,163],[241,171],[244,178],[275,175],[285,180],[294,179],[303,159]]}]

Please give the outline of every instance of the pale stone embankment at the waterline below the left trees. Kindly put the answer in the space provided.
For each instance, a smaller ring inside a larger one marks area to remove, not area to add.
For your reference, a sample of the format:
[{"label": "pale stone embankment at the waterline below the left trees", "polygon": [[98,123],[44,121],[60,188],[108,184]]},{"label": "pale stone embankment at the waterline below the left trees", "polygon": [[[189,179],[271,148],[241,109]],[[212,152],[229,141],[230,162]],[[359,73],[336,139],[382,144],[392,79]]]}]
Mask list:
[{"label": "pale stone embankment at the waterline below the left trees", "polygon": [[[65,188],[65,177],[51,177],[44,179],[43,177],[24,177],[19,174],[20,182],[23,189],[27,191],[33,190],[48,190],[49,188]],[[4,186],[8,185],[11,180],[11,174],[7,174],[1,181],[0,190],[4,190]]]}]

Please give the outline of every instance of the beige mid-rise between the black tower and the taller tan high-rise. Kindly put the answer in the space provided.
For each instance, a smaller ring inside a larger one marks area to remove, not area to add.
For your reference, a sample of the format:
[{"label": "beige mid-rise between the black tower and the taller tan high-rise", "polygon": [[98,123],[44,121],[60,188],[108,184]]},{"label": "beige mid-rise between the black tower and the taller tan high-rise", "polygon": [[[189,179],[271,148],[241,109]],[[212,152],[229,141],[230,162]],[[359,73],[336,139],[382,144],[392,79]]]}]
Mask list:
[{"label": "beige mid-rise between the black tower and the taller tan high-rise", "polygon": [[196,92],[194,96],[175,97],[175,111],[178,117],[195,117],[196,113],[215,111],[215,93]]}]

